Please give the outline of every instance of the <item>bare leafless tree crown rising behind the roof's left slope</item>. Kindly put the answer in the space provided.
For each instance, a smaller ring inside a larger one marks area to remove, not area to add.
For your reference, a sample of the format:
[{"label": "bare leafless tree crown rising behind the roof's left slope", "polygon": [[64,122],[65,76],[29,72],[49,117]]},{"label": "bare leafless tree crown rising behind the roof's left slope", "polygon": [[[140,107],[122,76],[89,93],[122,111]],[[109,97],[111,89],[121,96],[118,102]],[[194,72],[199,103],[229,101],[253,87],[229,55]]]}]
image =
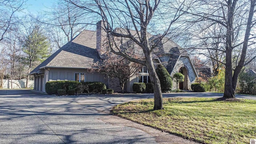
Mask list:
[{"label": "bare leafless tree crown rising behind the roof's left slope", "polygon": [[58,48],[72,40],[76,34],[88,26],[86,24],[88,15],[70,2],[57,0],[56,4],[48,9],[42,12],[45,19],[38,21],[47,24],[49,30],[54,32],[53,39]]}]

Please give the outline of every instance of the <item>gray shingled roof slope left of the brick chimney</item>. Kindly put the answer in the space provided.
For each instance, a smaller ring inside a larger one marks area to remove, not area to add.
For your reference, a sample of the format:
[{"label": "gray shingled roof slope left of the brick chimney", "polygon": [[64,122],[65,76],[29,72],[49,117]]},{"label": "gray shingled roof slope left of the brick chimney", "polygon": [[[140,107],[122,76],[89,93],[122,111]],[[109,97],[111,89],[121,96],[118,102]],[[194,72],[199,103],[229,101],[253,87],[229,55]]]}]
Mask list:
[{"label": "gray shingled roof slope left of the brick chimney", "polygon": [[30,74],[39,73],[40,68],[91,68],[100,61],[96,50],[96,32],[83,30],[70,42],[62,46]]}]

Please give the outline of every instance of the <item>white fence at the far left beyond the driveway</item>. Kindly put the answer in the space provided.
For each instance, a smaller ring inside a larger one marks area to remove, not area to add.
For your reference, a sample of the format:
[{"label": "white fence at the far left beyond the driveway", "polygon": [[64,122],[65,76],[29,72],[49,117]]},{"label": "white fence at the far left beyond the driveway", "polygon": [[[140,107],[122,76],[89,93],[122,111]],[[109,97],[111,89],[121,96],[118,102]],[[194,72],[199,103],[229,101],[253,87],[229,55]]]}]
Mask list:
[{"label": "white fence at the far left beyond the driveway", "polygon": [[[3,88],[26,88],[26,78],[22,80],[4,80]],[[34,80],[28,80],[28,88],[34,88]]]}]

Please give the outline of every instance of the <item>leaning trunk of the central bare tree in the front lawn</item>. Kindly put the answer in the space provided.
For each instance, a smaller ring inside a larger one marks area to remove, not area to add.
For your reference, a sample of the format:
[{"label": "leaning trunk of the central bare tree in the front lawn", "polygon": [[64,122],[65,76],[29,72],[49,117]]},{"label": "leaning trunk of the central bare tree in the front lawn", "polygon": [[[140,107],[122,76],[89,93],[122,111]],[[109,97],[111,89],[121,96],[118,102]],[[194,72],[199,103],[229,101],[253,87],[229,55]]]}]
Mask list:
[{"label": "leaning trunk of the central bare tree in the front lawn", "polygon": [[160,86],[160,80],[156,74],[152,55],[150,52],[148,52],[148,53],[145,53],[145,57],[146,57],[146,66],[148,69],[148,74],[154,89],[154,110],[163,110],[164,107],[163,107],[163,97],[162,97],[162,91]]}]

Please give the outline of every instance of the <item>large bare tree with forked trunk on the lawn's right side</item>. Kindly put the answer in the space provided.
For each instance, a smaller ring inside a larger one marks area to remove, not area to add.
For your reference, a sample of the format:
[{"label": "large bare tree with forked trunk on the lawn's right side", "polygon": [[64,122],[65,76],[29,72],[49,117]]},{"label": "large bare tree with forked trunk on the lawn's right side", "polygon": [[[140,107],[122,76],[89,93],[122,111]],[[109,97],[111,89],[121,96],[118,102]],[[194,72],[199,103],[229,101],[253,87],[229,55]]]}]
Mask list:
[{"label": "large bare tree with forked trunk on the lawn's right side", "polygon": [[243,66],[255,58],[246,62],[247,50],[255,43],[252,31],[256,22],[255,3],[256,0],[197,0],[193,9],[187,12],[190,22],[204,26],[202,30],[211,30],[216,25],[222,29],[223,49],[211,49],[225,54],[222,61],[226,67],[224,99],[235,98],[238,75]]}]

